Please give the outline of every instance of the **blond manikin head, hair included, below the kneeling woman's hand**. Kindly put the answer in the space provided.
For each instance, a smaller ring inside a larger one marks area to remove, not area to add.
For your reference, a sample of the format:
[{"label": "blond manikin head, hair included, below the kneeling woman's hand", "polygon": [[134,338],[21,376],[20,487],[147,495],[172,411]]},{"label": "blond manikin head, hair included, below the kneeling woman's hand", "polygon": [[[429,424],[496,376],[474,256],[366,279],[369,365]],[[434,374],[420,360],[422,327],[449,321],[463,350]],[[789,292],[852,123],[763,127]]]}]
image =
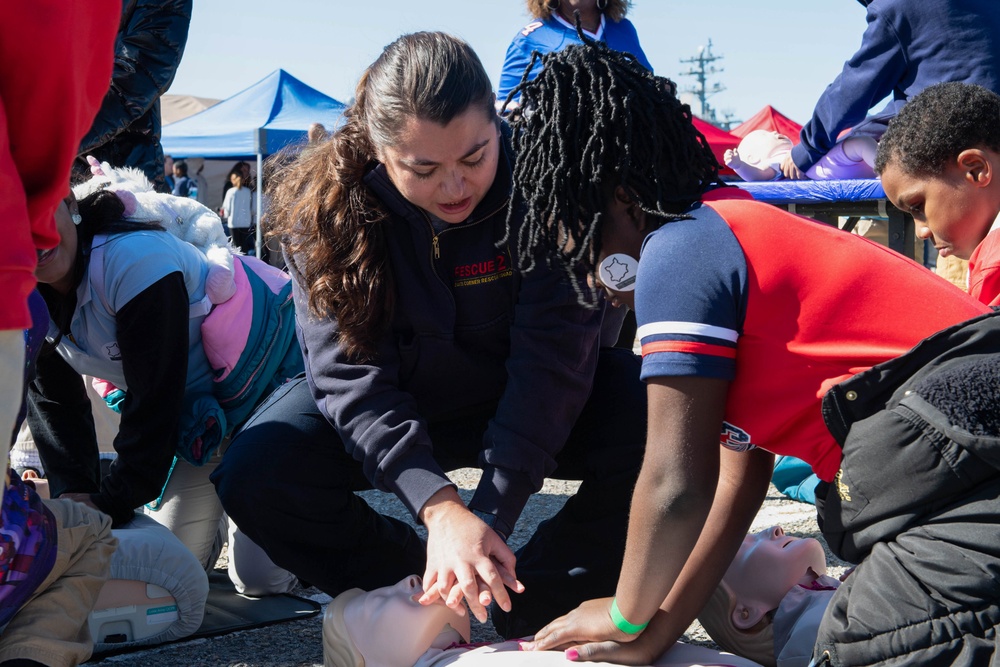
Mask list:
[{"label": "blond manikin head, hair included, below the kneeling woman's hand", "polygon": [[444,603],[421,605],[420,577],[370,592],[351,589],[323,617],[323,660],[336,667],[413,665],[430,648],[469,641],[469,616]]}]

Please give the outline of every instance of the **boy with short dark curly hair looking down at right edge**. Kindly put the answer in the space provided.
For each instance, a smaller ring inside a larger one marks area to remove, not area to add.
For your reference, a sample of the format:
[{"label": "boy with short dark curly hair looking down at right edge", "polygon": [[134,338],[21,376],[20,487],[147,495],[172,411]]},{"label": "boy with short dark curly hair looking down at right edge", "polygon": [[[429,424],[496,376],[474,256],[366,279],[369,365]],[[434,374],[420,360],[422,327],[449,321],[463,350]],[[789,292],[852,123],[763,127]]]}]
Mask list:
[{"label": "boy with short dark curly hair looking down at right edge", "polygon": [[889,122],[875,169],[942,256],[969,260],[969,293],[1000,306],[1000,95],[940,83]]}]

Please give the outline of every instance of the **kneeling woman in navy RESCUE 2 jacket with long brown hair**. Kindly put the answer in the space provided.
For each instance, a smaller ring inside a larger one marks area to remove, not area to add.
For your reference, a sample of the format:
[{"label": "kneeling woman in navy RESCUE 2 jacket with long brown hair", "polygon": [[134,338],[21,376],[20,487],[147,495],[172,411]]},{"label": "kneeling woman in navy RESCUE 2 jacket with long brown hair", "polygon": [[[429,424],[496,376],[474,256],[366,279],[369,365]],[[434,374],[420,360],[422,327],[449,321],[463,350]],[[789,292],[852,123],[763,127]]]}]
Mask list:
[{"label": "kneeling woman in navy RESCUE 2 jacket with long brown hair", "polygon": [[[422,574],[422,602],[464,599],[480,620],[492,604],[502,635],[525,636],[614,588],[645,435],[638,360],[600,347],[603,302],[581,306],[502,242],[512,157],[467,44],[404,35],[355,100],[274,176],[305,377],[212,479],[246,534],[321,590]],[[468,503],[445,475],[459,467],[483,471]],[[506,540],[546,477],[583,483],[515,557]],[[426,544],[354,493],[372,487]]]}]

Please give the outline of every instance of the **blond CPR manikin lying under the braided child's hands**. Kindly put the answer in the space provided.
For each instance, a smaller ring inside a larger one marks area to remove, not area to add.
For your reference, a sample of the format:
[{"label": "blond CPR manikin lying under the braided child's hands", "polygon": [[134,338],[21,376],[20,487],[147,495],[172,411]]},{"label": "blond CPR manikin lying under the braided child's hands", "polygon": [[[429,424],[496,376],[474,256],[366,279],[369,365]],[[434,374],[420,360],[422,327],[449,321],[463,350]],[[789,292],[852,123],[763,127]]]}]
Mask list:
[{"label": "blond CPR manikin lying under the braided child's hands", "polygon": [[[323,619],[323,658],[328,667],[565,667],[561,651],[521,652],[518,642],[469,645],[469,617],[444,604],[422,606],[420,577],[369,593],[358,589],[337,596]],[[588,663],[600,667],[608,663]],[[677,644],[656,667],[757,663],[703,646]]]}]

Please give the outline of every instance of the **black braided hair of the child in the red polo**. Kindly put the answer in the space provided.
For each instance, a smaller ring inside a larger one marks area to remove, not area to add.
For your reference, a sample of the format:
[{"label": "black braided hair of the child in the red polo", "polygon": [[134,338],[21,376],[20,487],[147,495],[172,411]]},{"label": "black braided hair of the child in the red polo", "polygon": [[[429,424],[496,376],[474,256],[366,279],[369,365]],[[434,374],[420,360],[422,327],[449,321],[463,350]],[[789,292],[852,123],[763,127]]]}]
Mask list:
[{"label": "black braided hair of the child in the red polo", "polygon": [[[583,45],[532,54],[513,93],[521,94],[521,106],[509,116],[517,160],[508,230],[516,230],[524,270],[544,257],[562,269],[582,305],[594,306],[598,296],[586,276],[595,270],[605,202],[617,187],[669,222],[685,218],[721,181],[718,161],[673,82],[631,54],[582,32],[580,38]],[[538,58],[542,70],[529,81]]]}]

